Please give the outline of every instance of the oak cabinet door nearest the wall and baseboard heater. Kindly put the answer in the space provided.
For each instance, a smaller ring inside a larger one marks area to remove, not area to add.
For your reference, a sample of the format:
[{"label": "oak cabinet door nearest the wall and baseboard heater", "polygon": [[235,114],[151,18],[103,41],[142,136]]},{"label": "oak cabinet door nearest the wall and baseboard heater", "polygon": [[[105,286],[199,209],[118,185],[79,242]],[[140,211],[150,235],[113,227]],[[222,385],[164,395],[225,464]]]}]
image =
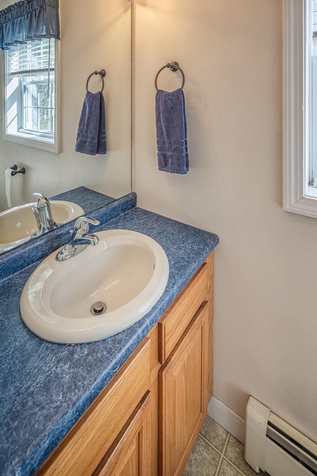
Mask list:
[{"label": "oak cabinet door nearest the wall and baseboard heater", "polygon": [[159,371],[159,475],[178,476],[207,415],[208,303]]}]

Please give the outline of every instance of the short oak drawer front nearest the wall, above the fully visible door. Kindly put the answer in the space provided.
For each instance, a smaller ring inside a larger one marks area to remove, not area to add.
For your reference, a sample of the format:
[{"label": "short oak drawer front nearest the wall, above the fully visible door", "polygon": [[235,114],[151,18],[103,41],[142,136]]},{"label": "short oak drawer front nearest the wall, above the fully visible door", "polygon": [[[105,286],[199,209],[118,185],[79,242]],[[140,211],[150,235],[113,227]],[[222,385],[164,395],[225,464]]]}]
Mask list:
[{"label": "short oak drawer front nearest the wall, above the fully visible door", "polygon": [[204,263],[159,320],[159,362],[164,363],[207,297],[208,266]]}]

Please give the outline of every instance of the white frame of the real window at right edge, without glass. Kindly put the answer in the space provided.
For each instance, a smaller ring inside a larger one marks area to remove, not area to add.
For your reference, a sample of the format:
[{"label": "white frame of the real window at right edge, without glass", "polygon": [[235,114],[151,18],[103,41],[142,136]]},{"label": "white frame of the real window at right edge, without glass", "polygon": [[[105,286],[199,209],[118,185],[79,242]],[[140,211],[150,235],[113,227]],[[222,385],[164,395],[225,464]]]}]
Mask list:
[{"label": "white frame of the real window at right edge, without glass", "polygon": [[283,208],[317,218],[309,185],[308,0],[283,0]]}]

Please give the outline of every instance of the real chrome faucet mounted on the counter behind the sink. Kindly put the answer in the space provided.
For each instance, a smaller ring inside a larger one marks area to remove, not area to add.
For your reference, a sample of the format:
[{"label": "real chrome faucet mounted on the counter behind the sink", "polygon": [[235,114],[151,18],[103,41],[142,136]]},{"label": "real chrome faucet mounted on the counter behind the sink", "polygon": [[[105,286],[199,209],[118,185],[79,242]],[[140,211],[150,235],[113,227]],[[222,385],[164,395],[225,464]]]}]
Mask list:
[{"label": "real chrome faucet mounted on the counter behind the sink", "polygon": [[56,254],[57,261],[71,258],[83,251],[89,244],[93,246],[98,244],[98,236],[88,233],[90,224],[97,226],[100,224],[100,221],[88,217],[79,217],[76,220],[74,230],[71,232],[70,241]]}]

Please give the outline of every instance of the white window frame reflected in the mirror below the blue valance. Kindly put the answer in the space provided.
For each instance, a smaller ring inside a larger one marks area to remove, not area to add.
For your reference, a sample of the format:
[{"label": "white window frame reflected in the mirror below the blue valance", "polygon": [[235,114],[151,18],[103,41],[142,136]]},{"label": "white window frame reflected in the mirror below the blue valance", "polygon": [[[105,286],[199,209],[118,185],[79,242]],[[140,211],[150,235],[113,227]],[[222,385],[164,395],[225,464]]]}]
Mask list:
[{"label": "white window frame reflected in the mirror below the blue valance", "polygon": [[60,152],[60,41],[55,41],[55,117],[54,117],[54,140],[48,142],[45,137],[32,135],[29,133],[18,132],[17,134],[8,134],[6,129],[6,104],[5,104],[5,55],[4,51],[1,55],[2,62],[2,139],[17,144],[26,145],[28,147],[34,147],[36,149],[42,149],[50,151],[56,154]]}]

